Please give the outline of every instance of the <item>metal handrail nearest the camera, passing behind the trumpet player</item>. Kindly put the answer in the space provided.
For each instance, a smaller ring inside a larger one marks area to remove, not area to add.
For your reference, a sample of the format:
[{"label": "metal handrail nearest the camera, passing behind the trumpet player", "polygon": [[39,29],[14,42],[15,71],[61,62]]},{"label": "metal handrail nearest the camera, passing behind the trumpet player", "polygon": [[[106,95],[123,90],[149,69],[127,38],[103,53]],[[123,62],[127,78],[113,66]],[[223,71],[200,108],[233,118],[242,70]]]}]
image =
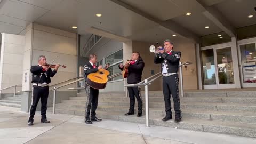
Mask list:
[{"label": "metal handrail nearest the camera, passing behind the trumpet player", "polygon": [[[182,76],[182,66],[183,65],[189,65],[190,62],[184,62],[184,63],[179,63],[179,72],[180,72],[180,85],[181,85],[181,97],[183,97],[183,76]],[[134,86],[145,86],[145,106],[146,106],[146,127],[149,127],[149,98],[148,98],[148,85],[158,79],[159,77],[162,77],[162,73],[157,73],[153,76],[150,76],[149,78],[146,78],[140,83],[137,84],[125,84],[125,87],[134,87]],[[148,81],[151,79],[150,81]]]}]

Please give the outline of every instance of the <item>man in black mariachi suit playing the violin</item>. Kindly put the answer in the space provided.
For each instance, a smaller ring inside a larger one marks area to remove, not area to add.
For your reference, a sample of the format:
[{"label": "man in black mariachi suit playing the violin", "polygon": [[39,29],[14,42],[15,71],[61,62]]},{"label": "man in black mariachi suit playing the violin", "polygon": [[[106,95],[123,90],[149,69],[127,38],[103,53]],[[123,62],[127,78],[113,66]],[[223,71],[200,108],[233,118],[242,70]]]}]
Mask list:
[{"label": "man in black mariachi suit playing the violin", "polygon": [[[54,67],[52,71],[51,68]],[[46,58],[44,55],[40,55],[38,57],[38,65],[31,66],[32,73],[32,100],[31,106],[29,109],[29,118],[28,125],[33,125],[34,115],[36,113],[36,107],[41,98],[41,123],[50,123],[50,121],[46,118],[46,110],[47,110],[47,100],[49,95],[49,83],[51,83],[51,78],[53,77],[60,67],[60,64],[55,66],[50,66],[46,63]]]}]

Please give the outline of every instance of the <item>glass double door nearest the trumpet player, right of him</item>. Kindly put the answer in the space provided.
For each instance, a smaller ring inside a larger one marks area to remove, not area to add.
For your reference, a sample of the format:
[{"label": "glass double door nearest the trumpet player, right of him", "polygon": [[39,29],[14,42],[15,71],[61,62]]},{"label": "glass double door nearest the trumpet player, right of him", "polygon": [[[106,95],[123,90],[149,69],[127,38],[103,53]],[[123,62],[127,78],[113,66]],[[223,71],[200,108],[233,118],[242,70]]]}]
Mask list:
[{"label": "glass double door nearest the trumpet player, right of him", "polygon": [[204,89],[234,88],[231,47],[202,50]]}]

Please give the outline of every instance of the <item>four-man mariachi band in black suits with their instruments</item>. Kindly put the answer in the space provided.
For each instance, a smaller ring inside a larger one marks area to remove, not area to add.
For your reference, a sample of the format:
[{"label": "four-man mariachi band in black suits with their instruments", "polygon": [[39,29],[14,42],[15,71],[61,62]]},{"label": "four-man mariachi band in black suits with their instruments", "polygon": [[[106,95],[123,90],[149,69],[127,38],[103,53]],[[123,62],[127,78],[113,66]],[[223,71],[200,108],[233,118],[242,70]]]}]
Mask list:
[{"label": "four-man mariachi band in black suits with their instruments", "polygon": [[[171,111],[171,95],[174,102],[175,122],[181,121],[180,98],[179,98],[179,61],[181,52],[173,51],[173,43],[167,39],[164,41],[164,47],[150,46],[150,52],[155,53],[154,63],[161,64],[161,73],[163,74],[163,94],[165,103],[166,115],[162,119],[168,121],[172,119]],[[108,81],[109,71],[107,71],[109,64],[105,67],[96,66],[97,55],[90,54],[89,62],[87,62],[84,69],[85,77],[85,91],[87,95],[85,103],[85,118],[86,124],[92,124],[93,121],[99,122],[102,119],[96,117],[96,109],[98,106],[99,89],[104,89]],[[123,71],[123,77],[127,78],[128,84],[137,84],[141,82],[142,71],[145,66],[143,59],[139,52],[132,52],[131,59],[124,65],[121,63],[118,67]],[[32,66],[30,71],[32,73],[32,99],[29,110],[28,125],[33,125],[34,115],[37,104],[41,98],[41,122],[50,123],[46,118],[47,99],[49,95],[49,83],[59,67],[66,68],[66,66],[50,65],[46,63],[46,57],[41,55],[38,57],[38,65]],[[51,68],[54,68],[53,70]],[[141,87],[128,87],[130,107],[125,115],[134,115],[135,98],[138,102],[138,117],[143,115],[143,99],[141,97]]]}]

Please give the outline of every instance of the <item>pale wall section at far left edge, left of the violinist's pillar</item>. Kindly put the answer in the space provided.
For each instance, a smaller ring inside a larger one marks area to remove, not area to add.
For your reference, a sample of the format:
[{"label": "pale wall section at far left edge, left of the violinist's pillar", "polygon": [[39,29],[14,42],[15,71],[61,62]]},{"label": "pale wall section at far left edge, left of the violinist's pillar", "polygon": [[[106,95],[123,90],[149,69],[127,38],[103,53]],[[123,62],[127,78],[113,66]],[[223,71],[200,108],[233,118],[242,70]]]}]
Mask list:
[{"label": "pale wall section at far left edge, left of the violinist's pillar", "polygon": [[[0,60],[0,89],[22,84],[23,51],[25,36],[3,34]],[[17,91],[21,87],[17,87]],[[1,93],[13,93],[14,88]]]}]

